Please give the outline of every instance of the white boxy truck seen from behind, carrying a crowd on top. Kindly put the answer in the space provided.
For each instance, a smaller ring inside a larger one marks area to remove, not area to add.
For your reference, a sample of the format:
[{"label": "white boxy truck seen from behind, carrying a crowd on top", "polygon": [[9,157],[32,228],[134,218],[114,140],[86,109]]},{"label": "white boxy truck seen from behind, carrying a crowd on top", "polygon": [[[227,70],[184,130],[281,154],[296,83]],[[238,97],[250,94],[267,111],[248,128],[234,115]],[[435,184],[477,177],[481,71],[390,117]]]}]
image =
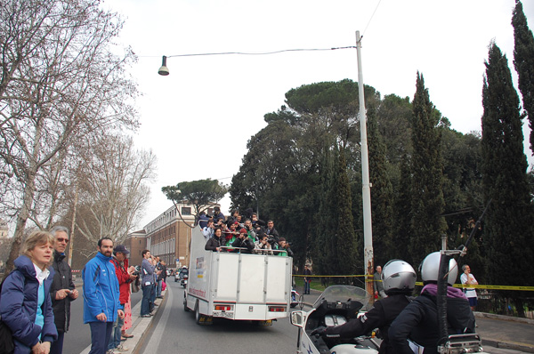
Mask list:
[{"label": "white boxy truck seen from behind, carrying a crowd on top", "polygon": [[199,325],[213,318],[251,320],[269,326],[287,318],[293,259],[281,255],[206,251],[199,226],[190,243],[189,283],[184,310],[195,312]]}]

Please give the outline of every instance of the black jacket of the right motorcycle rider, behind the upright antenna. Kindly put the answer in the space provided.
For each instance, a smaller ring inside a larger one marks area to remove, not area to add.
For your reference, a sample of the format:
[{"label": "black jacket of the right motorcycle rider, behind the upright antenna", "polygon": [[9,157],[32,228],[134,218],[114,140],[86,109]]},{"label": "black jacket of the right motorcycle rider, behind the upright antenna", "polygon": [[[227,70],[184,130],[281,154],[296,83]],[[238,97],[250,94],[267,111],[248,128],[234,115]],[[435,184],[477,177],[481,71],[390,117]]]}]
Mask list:
[{"label": "black jacket of the right motorcycle rider, behind the upright antenna", "polygon": [[[447,322],[449,334],[474,333],[474,316],[469,302],[458,297],[462,291],[449,287],[447,297]],[[450,297],[455,294],[456,297]],[[438,329],[438,307],[436,296],[425,292],[425,288],[416,300],[411,302],[395,319],[389,330],[393,349],[398,354],[413,354],[409,348],[408,338],[425,347],[425,354],[436,354],[440,339]]]}]

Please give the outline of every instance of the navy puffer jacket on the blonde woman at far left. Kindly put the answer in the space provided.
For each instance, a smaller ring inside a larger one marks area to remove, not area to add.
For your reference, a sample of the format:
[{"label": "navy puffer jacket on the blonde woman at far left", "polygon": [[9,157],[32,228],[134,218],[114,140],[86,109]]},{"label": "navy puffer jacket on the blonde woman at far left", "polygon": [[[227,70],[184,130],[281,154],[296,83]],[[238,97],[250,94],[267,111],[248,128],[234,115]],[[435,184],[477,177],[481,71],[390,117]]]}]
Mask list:
[{"label": "navy puffer jacket on the blonde woman at far left", "polygon": [[37,294],[39,282],[36,278],[36,269],[32,261],[21,255],[14,261],[16,270],[5,278],[0,297],[0,315],[2,321],[12,330],[15,339],[15,354],[29,353],[31,348],[41,341],[53,342],[58,332],[53,323],[52,301],[50,299],[50,286],[53,281],[52,267],[48,278],[44,279],[43,328],[35,324],[37,312]]}]

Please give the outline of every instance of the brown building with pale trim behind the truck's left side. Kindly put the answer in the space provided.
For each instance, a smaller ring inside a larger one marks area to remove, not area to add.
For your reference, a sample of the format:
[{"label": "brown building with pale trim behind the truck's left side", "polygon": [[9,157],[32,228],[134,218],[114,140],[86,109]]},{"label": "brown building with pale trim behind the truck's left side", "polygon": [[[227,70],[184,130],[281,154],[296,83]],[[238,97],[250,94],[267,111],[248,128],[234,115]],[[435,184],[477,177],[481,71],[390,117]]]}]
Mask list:
[{"label": "brown building with pale trim behind the truck's left side", "polygon": [[[167,268],[189,266],[189,246],[192,229],[189,225],[195,222],[194,206],[186,203],[177,205],[182,217],[173,205],[165,213],[150,221],[144,227],[146,231],[147,249],[166,261]],[[213,214],[214,206],[210,205],[206,213]]]}]

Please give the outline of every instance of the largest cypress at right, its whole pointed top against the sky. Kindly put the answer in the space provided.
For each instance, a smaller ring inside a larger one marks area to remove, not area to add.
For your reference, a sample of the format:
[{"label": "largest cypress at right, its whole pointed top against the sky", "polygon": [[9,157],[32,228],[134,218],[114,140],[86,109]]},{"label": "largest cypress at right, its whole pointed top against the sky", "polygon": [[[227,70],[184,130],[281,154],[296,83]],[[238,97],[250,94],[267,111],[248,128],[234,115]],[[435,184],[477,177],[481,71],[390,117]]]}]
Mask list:
[{"label": "largest cypress at right, its whole pointed top against the sky", "polygon": [[[532,286],[534,220],[519,97],[506,56],[497,44],[490,44],[485,65],[481,171],[484,201],[491,199],[483,236],[488,276],[495,285]],[[516,305],[522,311],[521,303]]]}]

